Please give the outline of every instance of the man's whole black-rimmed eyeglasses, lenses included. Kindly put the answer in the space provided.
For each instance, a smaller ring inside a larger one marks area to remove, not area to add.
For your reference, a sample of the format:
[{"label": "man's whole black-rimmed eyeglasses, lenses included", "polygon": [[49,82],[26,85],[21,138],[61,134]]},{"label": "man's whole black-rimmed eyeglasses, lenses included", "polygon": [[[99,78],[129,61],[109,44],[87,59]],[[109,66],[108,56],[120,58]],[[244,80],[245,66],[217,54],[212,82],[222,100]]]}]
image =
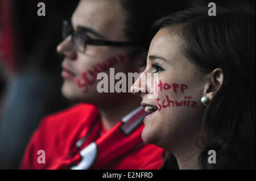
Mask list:
[{"label": "man's whole black-rimmed eyeglasses, lenses included", "polygon": [[81,53],[85,52],[86,45],[105,45],[115,47],[138,45],[138,43],[135,42],[93,40],[84,32],[73,30],[71,23],[69,23],[68,20],[64,20],[62,30],[63,39],[66,39],[69,35],[72,37],[72,44],[75,46],[76,50]]}]

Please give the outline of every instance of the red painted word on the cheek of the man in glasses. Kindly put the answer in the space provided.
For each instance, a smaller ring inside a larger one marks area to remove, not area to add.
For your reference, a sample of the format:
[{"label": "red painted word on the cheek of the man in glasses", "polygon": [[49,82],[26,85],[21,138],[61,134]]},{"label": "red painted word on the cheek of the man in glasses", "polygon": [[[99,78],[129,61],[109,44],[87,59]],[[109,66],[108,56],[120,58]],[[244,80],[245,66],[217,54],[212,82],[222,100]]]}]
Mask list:
[{"label": "red painted word on the cheek of the man in glasses", "polygon": [[117,54],[116,56],[106,58],[106,60],[100,63],[93,64],[91,69],[84,71],[81,76],[76,79],[76,85],[86,93],[89,91],[89,87],[96,82],[98,73],[106,72],[109,68],[123,64],[124,62],[125,56]]}]

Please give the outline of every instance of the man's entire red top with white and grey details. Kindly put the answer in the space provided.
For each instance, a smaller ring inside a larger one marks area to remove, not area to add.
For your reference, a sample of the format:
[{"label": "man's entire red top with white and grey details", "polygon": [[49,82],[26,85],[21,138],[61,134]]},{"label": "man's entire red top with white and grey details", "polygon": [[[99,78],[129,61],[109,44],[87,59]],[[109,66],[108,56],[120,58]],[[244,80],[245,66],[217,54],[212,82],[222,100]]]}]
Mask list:
[{"label": "man's entire red top with white and grey details", "polygon": [[[89,104],[48,116],[31,138],[21,169],[159,169],[154,163],[163,149],[142,141],[143,117],[138,108],[106,132]],[[38,162],[39,150],[45,163]]]}]

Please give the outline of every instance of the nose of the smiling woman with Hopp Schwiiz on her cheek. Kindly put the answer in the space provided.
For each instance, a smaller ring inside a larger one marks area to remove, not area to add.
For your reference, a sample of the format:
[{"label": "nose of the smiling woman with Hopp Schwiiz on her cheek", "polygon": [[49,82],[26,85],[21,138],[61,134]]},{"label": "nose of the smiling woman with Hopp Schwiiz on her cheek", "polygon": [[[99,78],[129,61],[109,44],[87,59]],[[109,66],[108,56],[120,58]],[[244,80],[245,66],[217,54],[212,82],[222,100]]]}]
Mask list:
[{"label": "nose of the smiling woman with Hopp Schwiiz on her cheek", "polygon": [[138,94],[147,94],[147,82],[146,82],[146,74],[143,72],[137,81],[131,86],[131,92],[134,95]]}]

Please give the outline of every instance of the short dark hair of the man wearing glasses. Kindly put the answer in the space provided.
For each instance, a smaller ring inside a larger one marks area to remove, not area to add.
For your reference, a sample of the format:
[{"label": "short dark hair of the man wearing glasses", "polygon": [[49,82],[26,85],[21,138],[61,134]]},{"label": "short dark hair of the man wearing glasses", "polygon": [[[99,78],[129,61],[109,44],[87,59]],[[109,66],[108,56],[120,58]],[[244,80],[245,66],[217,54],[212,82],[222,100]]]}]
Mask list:
[{"label": "short dark hair of the man wearing glasses", "polygon": [[[125,33],[129,41],[139,41],[139,52],[147,50],[152,39],[152,24],[171,12],[188,7],[187,0],[120,0],[127,12]],[[135,49],[138,49],[135,47]],[[136,51],[135,51],[136,52]],[[136,53],[134,53],[136,54]]]}]

